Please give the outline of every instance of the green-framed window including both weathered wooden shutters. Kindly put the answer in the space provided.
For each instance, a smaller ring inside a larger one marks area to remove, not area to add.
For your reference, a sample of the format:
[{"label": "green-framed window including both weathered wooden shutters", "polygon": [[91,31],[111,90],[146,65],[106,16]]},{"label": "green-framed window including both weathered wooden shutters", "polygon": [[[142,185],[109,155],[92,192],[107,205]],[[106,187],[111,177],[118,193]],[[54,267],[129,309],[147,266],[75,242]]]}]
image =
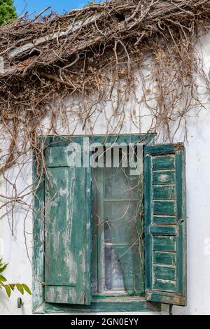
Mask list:
[{"label": "green-framed window including both weathered wooden shutters", "polygon": [[41,179],[34,166],[34,312],[186,304],[184,148],[152,139],[45,139]]}]

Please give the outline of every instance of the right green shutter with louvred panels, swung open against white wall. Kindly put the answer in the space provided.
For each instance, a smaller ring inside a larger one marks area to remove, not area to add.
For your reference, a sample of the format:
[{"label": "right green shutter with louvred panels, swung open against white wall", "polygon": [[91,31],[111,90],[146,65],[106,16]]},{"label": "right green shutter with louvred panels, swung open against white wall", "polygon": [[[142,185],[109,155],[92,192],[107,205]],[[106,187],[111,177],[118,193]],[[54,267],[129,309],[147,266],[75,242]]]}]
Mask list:
[{"label": "right green shutter with louvred panels, swung open against white wall", "polygon": [[144,155],[146,299],[185,306],[185,149],[147,146]]}]

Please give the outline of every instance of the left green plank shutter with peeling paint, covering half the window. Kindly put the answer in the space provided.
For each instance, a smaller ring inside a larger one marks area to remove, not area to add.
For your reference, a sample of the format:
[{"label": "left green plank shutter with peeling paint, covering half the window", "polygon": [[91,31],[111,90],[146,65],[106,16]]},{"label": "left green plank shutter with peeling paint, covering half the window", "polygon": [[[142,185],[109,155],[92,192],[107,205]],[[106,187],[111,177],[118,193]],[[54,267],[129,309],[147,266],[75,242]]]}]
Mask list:
[{"label": "left green plank shutter with peeling paint, covering half the window", "polygon": [[90,304],[90,168],[69,148],[45,151],[45,302]]}]

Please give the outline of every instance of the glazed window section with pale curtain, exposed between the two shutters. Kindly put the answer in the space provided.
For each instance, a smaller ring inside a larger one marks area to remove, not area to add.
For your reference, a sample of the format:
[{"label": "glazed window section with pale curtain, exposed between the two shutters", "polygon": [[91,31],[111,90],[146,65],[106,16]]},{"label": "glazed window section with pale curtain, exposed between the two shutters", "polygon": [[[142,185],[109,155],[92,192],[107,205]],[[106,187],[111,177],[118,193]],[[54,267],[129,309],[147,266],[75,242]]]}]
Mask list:
[{"label": "glazed window section with pale curtain, exposed between the two shutters", "polygon": [[143,290],[141,178],[129,167],[94,169],[94,294],[139,295]]}]

